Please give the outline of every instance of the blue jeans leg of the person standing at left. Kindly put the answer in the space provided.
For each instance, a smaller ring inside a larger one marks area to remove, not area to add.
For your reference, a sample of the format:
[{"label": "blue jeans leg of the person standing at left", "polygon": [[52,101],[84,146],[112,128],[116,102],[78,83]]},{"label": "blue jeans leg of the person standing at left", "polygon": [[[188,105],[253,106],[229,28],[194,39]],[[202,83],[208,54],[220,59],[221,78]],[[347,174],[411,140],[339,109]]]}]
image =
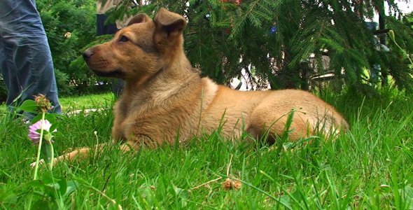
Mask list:
[{"label": "blue jeans leg of the person standing at left", "polygon": [[1,0],[0,69],[9,109],[45,94],[62,113],[52,55],[35,0]]}]

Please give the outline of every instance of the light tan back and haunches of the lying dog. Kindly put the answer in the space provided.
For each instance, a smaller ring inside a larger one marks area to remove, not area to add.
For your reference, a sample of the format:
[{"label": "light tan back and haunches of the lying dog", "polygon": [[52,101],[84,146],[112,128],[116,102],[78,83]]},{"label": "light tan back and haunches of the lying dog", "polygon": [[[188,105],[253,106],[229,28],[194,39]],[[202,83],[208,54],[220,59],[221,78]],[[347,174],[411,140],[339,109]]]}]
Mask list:
[{"label": "light tan back and haunches of the lying dog", "polygon": [[[215,84],[214,84],[215,85]],[[214,85],[211,85],[214,88]],[[269,131],[273,137],[283,134],[292,114],[290,139],[313,134],[330,136],[348,129],[346,120],[323,100],[302,90],[246,91],[217,86],[211,104],[205,104],[202,127],[211,132],[221,126],[225,137],[238,138],[244,130],[253,137]]]}]

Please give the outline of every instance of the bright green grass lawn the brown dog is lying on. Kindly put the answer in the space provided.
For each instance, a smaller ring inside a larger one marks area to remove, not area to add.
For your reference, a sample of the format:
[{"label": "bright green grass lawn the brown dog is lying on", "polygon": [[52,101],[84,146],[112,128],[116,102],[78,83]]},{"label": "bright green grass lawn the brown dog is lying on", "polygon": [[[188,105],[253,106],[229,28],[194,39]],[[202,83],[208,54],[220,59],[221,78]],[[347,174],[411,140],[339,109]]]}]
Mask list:
[{"label": "bright green grass lawn the brown dog is lying on", "polygon": [[[55,177],[78,183],[57,203],[62,209],[117,209],[118,204],[123,209],[412,209],[413,99],[394,93],[365,100],[324,97],[351,124],[336,141],[285,144],[277,153],[274,146],[232,143],[216,132],[185,145],[125,155],[104,148],[87,160],[55,167]],[[111,140],[111,95],[93,98],[61,100],[73,109],[103,109],[59,120],[57,153]],[[23,209],[36,148],[27,139],[27,125],[0,119],[0,208]],[[39,173],[46,172],[41,167]],[[228,176],[239,180],[241,189],[225,190]],[[33,203],[51,202],[33,195]]]}]

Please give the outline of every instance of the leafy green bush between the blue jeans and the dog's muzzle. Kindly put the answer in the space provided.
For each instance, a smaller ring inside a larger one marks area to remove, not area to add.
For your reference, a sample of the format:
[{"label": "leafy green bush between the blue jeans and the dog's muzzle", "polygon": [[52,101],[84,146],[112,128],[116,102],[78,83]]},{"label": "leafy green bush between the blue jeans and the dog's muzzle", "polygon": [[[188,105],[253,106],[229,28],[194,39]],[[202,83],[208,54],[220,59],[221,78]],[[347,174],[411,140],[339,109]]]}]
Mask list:
[{"label": "leafy green bush between the blue jeans and the dog's muzzle", "polygon": [[91,71],[79,68],[73,61],[85,45],[96,39],[96,1],[41,0],[36,3],[52,51],[59,92],[85,92],[95,79]]}]

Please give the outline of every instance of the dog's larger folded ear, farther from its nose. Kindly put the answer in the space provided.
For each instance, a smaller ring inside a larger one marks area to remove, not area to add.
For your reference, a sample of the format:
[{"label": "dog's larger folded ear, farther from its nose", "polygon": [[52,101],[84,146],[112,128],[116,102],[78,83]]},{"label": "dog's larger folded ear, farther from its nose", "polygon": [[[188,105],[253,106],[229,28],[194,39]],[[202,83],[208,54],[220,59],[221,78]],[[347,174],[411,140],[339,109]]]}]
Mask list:
[{"label": "dog's larger folded ear, farther from its nose", "polygon": [[153,22],[155,23],[153,41],[157,45],[176,43],[177,38],[180,38],[179,36],[186,27],[186,20],[182,15],[172,13],[165,8],[158,11]]}]

